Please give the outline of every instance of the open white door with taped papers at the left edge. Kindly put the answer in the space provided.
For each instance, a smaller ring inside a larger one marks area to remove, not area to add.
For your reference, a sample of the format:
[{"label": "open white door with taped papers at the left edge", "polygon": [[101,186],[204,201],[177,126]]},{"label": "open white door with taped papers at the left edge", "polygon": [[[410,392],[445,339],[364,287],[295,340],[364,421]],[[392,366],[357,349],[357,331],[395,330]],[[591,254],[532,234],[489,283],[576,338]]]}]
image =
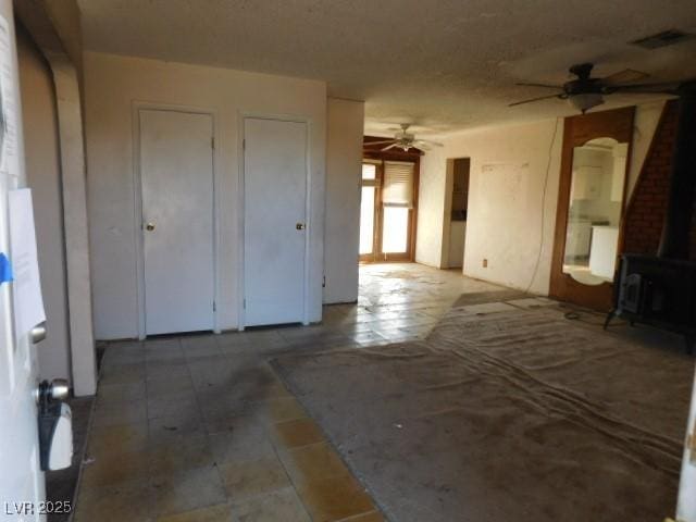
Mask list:
[{"label": "open white door with taped papers at the left edge", "polygon": [[[8,192],[26,184],[23,163],[22,125],[17,105],[16,50],[12,25],[12,2],[0,1],[0,252],[11,258]],[[13,133],[5,133],[12,128]],[[15,137],[16,138],[15,140]],[[28,151],[30,152],[30,151]],[[0,511],[3,520],[39,521],[39,502],[45,500],[44,473],[39,467],[37,408],[37,362],[27,332],[15,330],[12,286],[0,283]],[[2,277],[5,279],[5,277]],[[26,504],[24,504],[26,502]]]}]

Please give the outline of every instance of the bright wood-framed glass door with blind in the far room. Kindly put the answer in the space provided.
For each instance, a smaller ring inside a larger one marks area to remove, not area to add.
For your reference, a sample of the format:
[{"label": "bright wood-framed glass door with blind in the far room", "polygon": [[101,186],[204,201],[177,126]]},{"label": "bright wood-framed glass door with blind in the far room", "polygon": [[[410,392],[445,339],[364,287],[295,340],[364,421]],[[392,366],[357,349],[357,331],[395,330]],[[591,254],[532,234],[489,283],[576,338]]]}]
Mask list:
[{"label": "bright wood-framed glass door with blind in the far room", "polygon": [[360,261],[412,261],[418,163],[364,160],[360,201]]}]

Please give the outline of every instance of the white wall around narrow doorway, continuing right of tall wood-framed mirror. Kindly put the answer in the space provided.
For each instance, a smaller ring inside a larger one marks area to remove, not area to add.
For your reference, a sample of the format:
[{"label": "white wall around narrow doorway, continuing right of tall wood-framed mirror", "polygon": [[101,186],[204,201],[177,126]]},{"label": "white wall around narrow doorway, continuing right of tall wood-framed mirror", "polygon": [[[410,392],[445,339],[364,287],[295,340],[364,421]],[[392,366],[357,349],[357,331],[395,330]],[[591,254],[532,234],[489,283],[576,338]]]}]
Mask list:
[{"label": "white wall around narrow doorway, continuing right of tall wood-framed mirror", "polygon": [[[639,173],[662,104],[636,109],[630,187]],[[445,147],[427,152],[421,163],[415,260],[442,265],[447,159],[471,158],[464,274],[548,294],[562,125],[559,120],[469,130],[444,139]],[[482,172],[485,165],[500,170],[521,167],[517,194],[509,194],[508,184],[487,183]],[[487,268],[483,268],[484,259],[488,261]]]}]

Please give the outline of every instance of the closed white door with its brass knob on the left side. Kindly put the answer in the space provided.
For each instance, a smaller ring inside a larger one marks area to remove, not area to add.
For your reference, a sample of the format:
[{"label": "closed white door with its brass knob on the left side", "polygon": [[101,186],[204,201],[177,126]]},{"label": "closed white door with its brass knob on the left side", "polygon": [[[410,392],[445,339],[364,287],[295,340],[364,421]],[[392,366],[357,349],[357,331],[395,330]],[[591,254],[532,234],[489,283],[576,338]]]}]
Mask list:
[{"label": "closed white door with its brass knob on the left side", "polygon": [[213,328],[213,122],[140,110],[145,330]]}]

